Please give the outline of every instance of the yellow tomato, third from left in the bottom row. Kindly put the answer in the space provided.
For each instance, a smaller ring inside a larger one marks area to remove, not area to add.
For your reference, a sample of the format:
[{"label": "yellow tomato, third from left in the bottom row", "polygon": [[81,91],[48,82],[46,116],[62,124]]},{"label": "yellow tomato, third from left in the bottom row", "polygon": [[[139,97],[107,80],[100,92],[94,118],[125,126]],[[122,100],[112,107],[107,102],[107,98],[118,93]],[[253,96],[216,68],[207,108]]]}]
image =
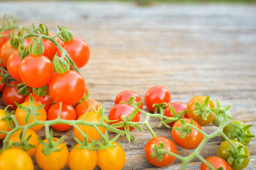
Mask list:
[{"label": "yellow tomato, third from left in the bottom row", "polygon": [[[77,144],[76,147],[80,147]],[[68,166],[71,170],[93,170],[97,164],[97,152],[88,148],[72,148],[68,156]]]}]

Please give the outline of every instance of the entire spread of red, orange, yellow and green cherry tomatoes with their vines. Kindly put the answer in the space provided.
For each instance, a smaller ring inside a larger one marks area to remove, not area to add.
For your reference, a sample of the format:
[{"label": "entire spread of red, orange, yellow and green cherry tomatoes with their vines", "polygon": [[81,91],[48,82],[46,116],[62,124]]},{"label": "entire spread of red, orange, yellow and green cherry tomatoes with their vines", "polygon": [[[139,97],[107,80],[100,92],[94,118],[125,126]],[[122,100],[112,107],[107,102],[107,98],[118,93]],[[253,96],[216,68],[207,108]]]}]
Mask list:
[{"label": "entire spread of red, orange, yellow and green cherry tomatoes with their vines", "polygon": [[[142,124],[154,137],[144,151],[148,162],[156,167],[166,167],[176,158],[183,163],[199,158],[203,161],[201,169],[243,169],[249,164],[250,152],[246,145],[254,135],[250,133],[250,125],[230,122],[230,106],[221,108],[216,101],[215,108],[206,96],[193,97],[188,104],[171,103],[167,88],[154,86],[144,95],[144,104],[151,113],[143,111],[142,99],[136,92],[123,91],[105,116],[102,104],[90,99],[85,80],[79,74],[78,69],[90,58],[90,49],[84,40],[73,37],[65,27],[59,27],[59,32],[53,34],[43,24],[27,34],[15,25],[5,25],[0,33],[0,88],[7,106],[0,110],[0,139],[4,148],[0,169],[34,169],[31,160],[34,155],[42,169],[61,169],[67,163],[71,169],[94,169],[96,164],[101,169],[122,169],[125,152],[115,140],[119,135],[134,140],[130,131],[143,131],[139,126]],[[8,113],[7,109],[13,111]],[[156,137],[148,119],[140,121],[141,113],[148,118],[158,117],[160,125],[171,129],[174,142]],[[211,122],[219,129],[208,135],[201,126]],[[49,126],[58,131],[74,127],[78,144],[70,153],[64,138],[53,138]],[[43,127],[46,129],[44,140],[36,134]],[[106,130],[119,135],[109,141]],[[204,143],[216,135],[221,135],[224,141],[217,156],[201,158],[199,152]],[[177,155],[175,143],[196,151],[181,157]]]}]

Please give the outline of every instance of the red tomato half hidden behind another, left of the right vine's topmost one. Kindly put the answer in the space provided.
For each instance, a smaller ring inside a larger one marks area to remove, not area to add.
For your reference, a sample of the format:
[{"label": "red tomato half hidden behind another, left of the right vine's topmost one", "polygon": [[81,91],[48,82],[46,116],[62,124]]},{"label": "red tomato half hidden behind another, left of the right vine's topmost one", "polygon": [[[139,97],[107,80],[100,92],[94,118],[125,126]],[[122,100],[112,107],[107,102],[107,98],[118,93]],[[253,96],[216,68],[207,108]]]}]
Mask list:
[{"label": "red tomato half hidden behind another, left of the right vine's topmost one", "polygon": [[[120,101],[128,102],[131,96],[134,96],[136,98],[133,100],[133,103],[138,103],[139,101],[141,101],[141,97],[136,92],[131,91],[131,90],[126,90],[126,91],[120,92],[115,97],[115,105],[119,104]],[[141,105],[139,105],[139,108],[143,109],[143,103],[141,103]]]}]

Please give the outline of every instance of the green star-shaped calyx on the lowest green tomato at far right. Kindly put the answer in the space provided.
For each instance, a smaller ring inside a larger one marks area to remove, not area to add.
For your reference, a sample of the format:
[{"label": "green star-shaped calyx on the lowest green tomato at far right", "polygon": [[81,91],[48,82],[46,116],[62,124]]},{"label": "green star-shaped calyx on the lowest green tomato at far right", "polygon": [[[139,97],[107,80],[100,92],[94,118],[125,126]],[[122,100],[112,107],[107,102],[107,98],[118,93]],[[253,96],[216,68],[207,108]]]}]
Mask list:
[{"label": "green star-shaped calyx on the lowest green tomato at far right", "polygon": [[244,146],[238,146],[236,151],[230,150],[229,148],[226,152],[230,155],[228,158],[228,163],[231,165],[233,162],[236,163],[237,166],[241,165],[241,159],[248,159],[249,156],[246,154],[240,154],[242,148]]}]

